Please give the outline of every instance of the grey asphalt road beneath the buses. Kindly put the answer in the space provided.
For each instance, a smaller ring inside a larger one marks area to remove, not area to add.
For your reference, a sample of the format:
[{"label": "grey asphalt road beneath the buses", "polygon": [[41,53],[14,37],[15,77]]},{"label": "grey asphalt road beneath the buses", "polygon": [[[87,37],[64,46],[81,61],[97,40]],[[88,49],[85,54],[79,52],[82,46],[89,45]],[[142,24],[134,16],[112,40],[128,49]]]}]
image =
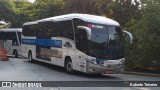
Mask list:
[{"label": "grey asphalt road beneath the buses", "polygon": [[[120,81],[129,83],[130,81],[160,81],[160,77],[139,76],[127,74],[110,74],[110,75],[88,75],[80,72],[75,74],[67,74],[64,68],[54,65],[34,62],[30,63],[28,59],[9,58],[9,61],[0,61],[0,81],[81,81],[85,87],[46,87],[46,88],[0,88],[4,90],[160,90],[159,87],[111,87],[119,84]],[[88,81],[94,82],[92,85]],[[101,87],[101,83],[105,82],[110,87]],[[110,83],[110,81],[112,81]],[[96,83],[97,82],[97,83]],[[100,83],[98,83],[100,82]],[[76,82],[72,82],[76,83]],[[120,82],[121,83],[121,82]],[[94,86],[98,84],[99,87]],[[88,85],[88,86],[87,86]]]}]

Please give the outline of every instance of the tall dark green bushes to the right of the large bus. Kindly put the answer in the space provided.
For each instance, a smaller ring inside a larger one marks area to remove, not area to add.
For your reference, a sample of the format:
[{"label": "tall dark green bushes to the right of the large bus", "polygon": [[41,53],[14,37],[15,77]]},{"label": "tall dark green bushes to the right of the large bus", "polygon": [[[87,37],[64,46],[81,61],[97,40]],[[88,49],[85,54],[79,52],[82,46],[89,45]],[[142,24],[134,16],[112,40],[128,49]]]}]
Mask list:
[{"label": "tall dark green bushes to the right of the large bus", "polygon": [[[160,1],[145,0],[142,19],[135,21],[129,30],[134,35],[134,44],[127,48],[127,69],[160,69]],[[131,64],[132,65],[129,65]]]}]

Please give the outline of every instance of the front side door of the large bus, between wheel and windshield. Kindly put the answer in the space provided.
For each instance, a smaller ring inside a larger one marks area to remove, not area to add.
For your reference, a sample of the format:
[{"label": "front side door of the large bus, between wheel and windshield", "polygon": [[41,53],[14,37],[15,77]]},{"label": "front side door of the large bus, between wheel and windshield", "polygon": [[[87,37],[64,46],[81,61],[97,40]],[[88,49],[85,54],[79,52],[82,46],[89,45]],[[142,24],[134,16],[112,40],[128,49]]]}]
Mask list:
[{"label": "front side door of the large bus, between wheel and windshield", "polygon": [[76,29],[75,32],[75,42],[77,50],[77,63],[78,63],[78,70],[86,71],[86,60],[85,54],[88,53],[88,37],[87,32],[83,28]]}]

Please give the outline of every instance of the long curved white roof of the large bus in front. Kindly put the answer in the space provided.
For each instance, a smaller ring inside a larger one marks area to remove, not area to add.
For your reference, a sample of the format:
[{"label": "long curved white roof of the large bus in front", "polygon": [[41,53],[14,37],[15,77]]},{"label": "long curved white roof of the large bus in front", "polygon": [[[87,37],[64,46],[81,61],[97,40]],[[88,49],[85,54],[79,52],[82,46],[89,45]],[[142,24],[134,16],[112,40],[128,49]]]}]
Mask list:
[{"label": "long curved white roof of the large bus in front", "polygon": [[103,16],[90,15],[90,14],[80,14],[80,13],[72,13],[72,14],[50,17],[50,18],[46,18],[46,19],[33,21],[33,22],[27,22],[24,25],[38,24],[38,22],[45,22],[45,21],[55,21],[55,22],[56,21],[65,21],[65,20],[72,20],[74,18],[81,19],[81,20],[84,20],[87,22],[92,22],[92,23],[120,26],[120,24],[117,21],[103,17]]}]

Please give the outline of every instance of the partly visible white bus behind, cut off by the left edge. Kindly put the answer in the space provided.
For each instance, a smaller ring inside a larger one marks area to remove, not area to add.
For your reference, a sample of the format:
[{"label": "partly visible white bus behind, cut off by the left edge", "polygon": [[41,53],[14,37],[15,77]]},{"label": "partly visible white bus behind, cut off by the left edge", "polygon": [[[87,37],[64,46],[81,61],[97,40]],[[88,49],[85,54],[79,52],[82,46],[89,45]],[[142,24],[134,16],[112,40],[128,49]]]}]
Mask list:
[{"label": "partly visible white bus behind, cut off by the left edge", "polygon": [[20,55],[21,33],[22,28],[0,29],[0,44],[8,56],[17,58]]}]

